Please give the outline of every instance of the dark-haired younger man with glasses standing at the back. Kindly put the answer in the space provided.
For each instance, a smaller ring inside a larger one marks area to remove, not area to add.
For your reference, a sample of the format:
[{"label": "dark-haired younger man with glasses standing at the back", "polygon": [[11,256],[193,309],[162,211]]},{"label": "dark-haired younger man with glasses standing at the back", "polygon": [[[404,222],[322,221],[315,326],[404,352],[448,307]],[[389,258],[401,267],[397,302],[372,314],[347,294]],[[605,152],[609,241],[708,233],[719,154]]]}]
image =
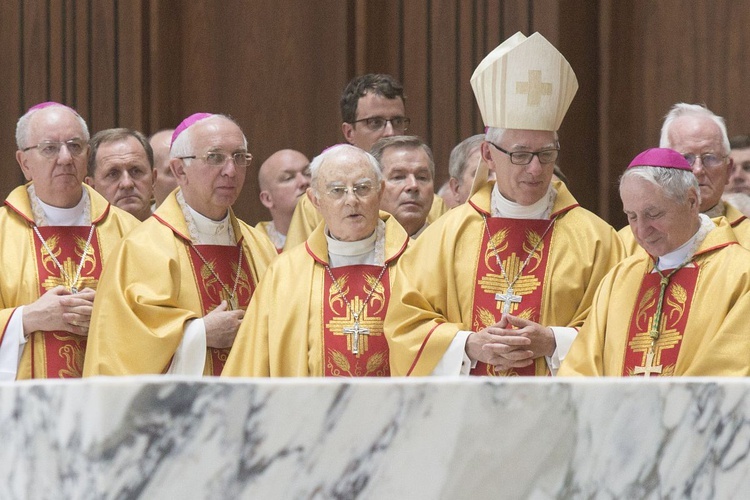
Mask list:
[{"label": "dark-haired younger man with glasses standing at the back", "polygon": [[[403,135],[409,128],[404,106],[404,88],[390,75],[366,74],[353,78],[341,95],[341,131],[350,144],[370,151],[382,137]],[[446,212],[443,199],[433,197],[428,221]],[[289,225],[285,249],[304,242],[320,223],[320,214],[301,199]]]}]

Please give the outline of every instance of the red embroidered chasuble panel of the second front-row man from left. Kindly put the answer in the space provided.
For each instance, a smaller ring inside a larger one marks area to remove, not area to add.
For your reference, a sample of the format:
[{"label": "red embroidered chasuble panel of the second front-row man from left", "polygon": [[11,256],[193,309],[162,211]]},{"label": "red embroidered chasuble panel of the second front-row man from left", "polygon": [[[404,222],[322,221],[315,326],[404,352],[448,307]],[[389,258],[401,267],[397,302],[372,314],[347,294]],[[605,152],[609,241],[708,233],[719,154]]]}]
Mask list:
[{"label": "red embroidered chasuble panel of the second front-row man from left", "polygon": [[[203,262],[200,255],[206,259],[208,265]],[[237,278],[237,288],[235,296],[230,300],[229,296],[234,288],[235,277],[237,277],[237,263],[239,262],[240,254],[242,251],[242,245],[236,246],[228,245],[195,245],[190,247],[190,259],[193,264],[193,274],[195,275],[195,282],[198,285],[198,294],[201,300],[201,313],[203,316],[213,311],[222,300],[226,300],[232,309],[247,309],[247,305],[250,303],[250,297],[253,296],[255,291],[255,283],[253,283],[248,264],[248,259],[242,259],[242,269],[240,270],[239,277]],[[209,267],[210,265],[210,267]],[[213,272],[211,272],[213,269]],[[221,282],[226,285],[229,289],[227,292],[219,282],[218,276]],[[215,347],[207,348],[206,354],[206,366],[203,370],[204,375],[221,375],[221,370],[224,368],[224,363],[227,361],[230,348],[219,349]]]}]

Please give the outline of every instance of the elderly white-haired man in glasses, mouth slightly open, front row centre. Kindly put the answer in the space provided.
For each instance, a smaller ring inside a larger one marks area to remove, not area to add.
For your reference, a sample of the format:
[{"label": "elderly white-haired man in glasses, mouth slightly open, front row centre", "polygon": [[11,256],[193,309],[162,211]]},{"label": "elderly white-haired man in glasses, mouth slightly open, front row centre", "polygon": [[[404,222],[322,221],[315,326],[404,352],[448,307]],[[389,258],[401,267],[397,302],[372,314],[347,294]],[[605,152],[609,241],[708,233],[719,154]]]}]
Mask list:
[{"label": "elderly white-haired man in glasses, mouth slightly open, front row centre", "polygon": [[409,238],[379,211],[383,181],[372,155],[340,144],[310,170],[307,195],[324,222],[269,266],[223,375],[389,374],[383,319],[391,270]]}]

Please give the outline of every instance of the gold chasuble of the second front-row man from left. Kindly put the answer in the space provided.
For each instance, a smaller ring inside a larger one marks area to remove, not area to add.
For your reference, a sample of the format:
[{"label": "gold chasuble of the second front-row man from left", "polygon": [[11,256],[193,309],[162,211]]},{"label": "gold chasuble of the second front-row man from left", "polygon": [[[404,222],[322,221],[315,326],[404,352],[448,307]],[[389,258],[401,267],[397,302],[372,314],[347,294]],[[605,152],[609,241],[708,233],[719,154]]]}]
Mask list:
[{"label": "gold chasuble of the second front-row man from left", "polygon": [[[230,306],[246,307],[276,257],[268,237],[231,209],[236,246],[193,246],[178,191],[123,239],[105,267],[99,293],[107,302],[94,304],[84,376],[165,373],[186,323],[230,297]],[[227,350],[206,351],[203,373],[219,373]]]}]

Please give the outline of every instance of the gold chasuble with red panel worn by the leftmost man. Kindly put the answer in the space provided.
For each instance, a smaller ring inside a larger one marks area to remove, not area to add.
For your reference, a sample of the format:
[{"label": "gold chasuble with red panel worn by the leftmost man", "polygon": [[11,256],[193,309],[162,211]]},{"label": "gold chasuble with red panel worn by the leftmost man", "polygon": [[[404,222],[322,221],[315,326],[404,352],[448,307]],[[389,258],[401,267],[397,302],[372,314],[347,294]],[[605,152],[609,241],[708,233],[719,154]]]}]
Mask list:
[{"label": "gold chasuble with red panel worn by the leftmost man", "polygon": [[[5,239],[0,256],[0,341],[16,307],[59,285],[96,290],[104,259],[138,225],[130,214],[83,186],[91,202],[90,226],[37,226],[27,186],[14,189],[0,209],[0,234]],[[95,303],[99,297],[97,293]],[[17,378],[80,377],[85,350],[84,336],[34,332],[24,346]]]}]

